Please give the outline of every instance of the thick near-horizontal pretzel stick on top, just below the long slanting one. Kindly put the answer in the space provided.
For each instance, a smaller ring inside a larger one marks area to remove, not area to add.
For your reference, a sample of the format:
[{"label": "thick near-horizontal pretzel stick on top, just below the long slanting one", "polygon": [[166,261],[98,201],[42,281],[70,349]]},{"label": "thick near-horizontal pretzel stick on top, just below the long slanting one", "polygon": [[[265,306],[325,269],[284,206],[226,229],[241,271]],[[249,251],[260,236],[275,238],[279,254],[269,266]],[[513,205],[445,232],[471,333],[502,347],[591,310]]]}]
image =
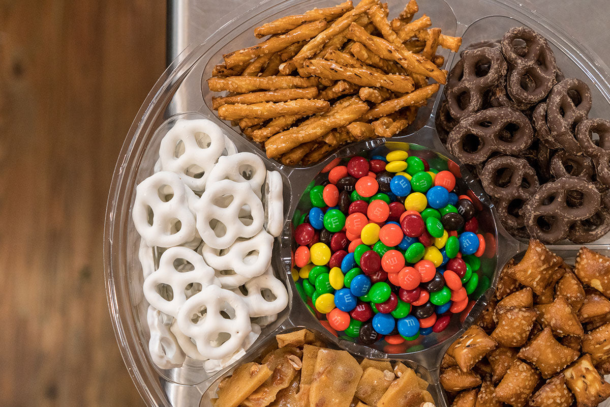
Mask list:
[{"label": "thick near-horizontal pretzel stick on top, just below the long slanting one", "polygon": [[[394,92],[411,92],[415,86],[409,76],[380,74],[368,69],[350,68],[339,63],[323,59],[310,59],[303,63],[303,68],[315,76],[368,87],[384,87]],[[436,68],[436,66],[435,66]]]}]

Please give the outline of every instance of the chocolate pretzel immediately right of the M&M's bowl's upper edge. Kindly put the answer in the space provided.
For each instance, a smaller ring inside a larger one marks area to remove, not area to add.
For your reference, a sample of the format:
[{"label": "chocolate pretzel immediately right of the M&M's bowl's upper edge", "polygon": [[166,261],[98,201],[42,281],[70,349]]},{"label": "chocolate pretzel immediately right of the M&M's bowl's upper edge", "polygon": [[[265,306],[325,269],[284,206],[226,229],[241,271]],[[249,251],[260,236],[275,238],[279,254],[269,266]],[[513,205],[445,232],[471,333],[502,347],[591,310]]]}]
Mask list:
[{"label": "chocolate pretzel immediately right of the M&M's bowl's upper edge", "polygon": [[520,210],[538,190],[536,170],[523,158],[493,157],[481,171],[481,184],[487,195],[497,201],[498,217],[509,229],[525,226]]}]

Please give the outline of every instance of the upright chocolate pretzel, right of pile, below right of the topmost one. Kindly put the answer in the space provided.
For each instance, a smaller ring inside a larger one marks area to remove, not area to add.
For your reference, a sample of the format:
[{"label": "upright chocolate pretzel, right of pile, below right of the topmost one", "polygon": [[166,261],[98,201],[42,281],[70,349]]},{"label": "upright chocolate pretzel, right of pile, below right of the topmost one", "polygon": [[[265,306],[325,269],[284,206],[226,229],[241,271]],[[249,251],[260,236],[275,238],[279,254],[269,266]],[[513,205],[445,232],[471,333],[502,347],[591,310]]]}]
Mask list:
[{"label": "upright chocolate pretzel, right of pile, below right of the topmost one", "polygon": [[570,154],[581,154],[575,128],[591,109],[591,91],[587,84],[569,77],[554,85],[547,99],[547,124],[551,136]]}]

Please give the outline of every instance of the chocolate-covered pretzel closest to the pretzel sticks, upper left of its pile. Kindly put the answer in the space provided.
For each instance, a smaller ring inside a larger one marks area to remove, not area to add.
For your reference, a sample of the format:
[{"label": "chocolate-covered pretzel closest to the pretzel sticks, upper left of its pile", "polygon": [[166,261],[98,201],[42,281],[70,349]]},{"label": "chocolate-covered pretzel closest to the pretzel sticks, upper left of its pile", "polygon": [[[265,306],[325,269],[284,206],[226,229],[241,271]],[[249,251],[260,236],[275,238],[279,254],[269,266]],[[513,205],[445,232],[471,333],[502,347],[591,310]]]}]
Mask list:
[{"label": "chocolate-covered pretzel closest to the pretzel sticks, upper left of its pile", "polygon": [[483,108],[484,93],[506,74],[506,61],[497,48],[464,52],[447,77],[445,97],[451,117],[460,120]]}]

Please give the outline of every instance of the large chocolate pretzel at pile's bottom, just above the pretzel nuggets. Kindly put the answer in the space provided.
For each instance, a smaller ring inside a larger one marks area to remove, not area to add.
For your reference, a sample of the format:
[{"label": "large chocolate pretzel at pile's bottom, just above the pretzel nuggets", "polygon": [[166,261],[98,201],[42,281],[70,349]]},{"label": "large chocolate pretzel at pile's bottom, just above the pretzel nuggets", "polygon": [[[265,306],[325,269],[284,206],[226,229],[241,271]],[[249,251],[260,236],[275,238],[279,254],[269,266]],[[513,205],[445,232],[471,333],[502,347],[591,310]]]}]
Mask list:
[{"label": "large chocolate pretzel at pile's bottom, just above the pretzel nuggets", "polygon": [[[570,204],[569,196],[580,195]],[[582,178],[564,177],[547,182],[523,206],[529,234],[546,243],[565,239],[576,221],[592,217],[600,207],[600,192]]]}]

